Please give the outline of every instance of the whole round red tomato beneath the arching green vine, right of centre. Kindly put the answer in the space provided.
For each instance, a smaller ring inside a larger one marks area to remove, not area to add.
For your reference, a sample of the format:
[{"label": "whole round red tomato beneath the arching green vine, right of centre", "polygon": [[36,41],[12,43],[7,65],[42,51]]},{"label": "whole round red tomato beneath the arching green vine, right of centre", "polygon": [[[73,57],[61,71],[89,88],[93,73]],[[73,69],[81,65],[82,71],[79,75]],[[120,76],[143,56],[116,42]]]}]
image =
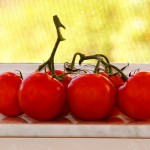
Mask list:
[{"label": "whole round red tomato beneath the arching green vine, right of centre", "polygon": [[100,74],[82,74],[68,85],[68,103],[71,112],[83,120],[107,117],[114,106],[116,90]]}]

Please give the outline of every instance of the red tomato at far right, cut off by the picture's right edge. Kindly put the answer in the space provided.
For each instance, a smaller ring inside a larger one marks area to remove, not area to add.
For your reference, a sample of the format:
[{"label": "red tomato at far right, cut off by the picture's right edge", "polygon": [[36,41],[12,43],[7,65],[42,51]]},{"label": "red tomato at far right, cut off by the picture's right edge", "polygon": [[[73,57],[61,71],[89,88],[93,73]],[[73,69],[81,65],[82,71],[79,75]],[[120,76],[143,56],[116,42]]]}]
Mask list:
[{"label": "red tomato at far right, cut off by the picture's right edge", "polygon": [[139,72],[121,86],[117,94],[120,110],[136,120],[150,119],[150,72]]}]

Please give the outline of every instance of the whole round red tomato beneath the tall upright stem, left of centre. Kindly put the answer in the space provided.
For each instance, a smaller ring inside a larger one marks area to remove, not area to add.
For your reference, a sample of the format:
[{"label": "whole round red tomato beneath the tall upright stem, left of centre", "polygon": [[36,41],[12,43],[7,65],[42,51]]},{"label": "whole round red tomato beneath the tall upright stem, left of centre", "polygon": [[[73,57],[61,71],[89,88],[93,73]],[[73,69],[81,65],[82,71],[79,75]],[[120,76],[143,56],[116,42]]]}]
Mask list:
[{"label": "whole round red tomato beneath the tall upright stem, left of centre", "polygon": [[62,110],[64,102],[64,86],[47,73],[32,73],[20,86],[20,106],[33,119],[44,121],[55,118]]}]

